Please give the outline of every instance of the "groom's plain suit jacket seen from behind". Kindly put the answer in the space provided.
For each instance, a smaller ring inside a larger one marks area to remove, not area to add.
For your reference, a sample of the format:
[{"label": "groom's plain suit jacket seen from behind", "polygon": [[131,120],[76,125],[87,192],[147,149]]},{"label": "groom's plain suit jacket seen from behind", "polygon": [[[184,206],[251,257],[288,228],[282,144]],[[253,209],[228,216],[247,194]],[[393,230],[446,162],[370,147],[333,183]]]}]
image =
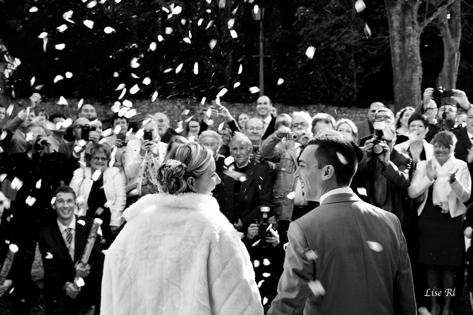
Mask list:
[{"label": "groom's plain suit jacket seen from behind", "polygon": [[[354,193],[333,194],[292,222],[288,238],[268,315],[416,314],[405,238],[394,214]],[[306,255],[309,251],[318,257]],[[313,280],[320,281],[325,296],[312,293]]]}]

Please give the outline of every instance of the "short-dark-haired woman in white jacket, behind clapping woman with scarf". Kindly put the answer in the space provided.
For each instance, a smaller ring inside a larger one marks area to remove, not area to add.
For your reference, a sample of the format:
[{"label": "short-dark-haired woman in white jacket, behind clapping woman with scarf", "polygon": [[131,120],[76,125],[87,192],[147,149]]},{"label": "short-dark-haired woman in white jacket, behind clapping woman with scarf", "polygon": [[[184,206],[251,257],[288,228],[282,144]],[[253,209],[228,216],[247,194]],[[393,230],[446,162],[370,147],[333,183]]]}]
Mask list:
[{"label": "short-dark-haired woman in white jacket, behind clapping woman with scarf", "polygon": [[407,154],[415,163],[431,159],[434,154],[434,146],[424,139],[429,130],[427,117],[414,114],[409,118],[408,125],[409,140],[395,145],[394,149]]}]

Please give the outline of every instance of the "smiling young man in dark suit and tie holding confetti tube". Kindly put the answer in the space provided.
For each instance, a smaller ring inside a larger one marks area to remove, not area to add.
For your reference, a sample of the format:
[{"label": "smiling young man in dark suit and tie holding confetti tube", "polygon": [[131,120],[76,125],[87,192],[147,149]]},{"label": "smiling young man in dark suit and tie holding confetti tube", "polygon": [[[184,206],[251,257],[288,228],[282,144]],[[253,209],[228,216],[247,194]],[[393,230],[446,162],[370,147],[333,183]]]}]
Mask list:
[{"label": "smiling young man in dark suit and tie holding confetti tube", "polygon": [[[93,219],[74,215],[75,193],[68,186],[54,192],[53,208],[57,220],[45,226],[38,237],[39,251],[44,265],[44,297],[48,315],[79,314],[81,302],[100,310],[101,273],[104,255],[98,236],[89,263],[85,268],[78,263],[87,243]],[[76,277],[85,285],[78,288]],[[76,299],[78,298],[78,299]]]}]

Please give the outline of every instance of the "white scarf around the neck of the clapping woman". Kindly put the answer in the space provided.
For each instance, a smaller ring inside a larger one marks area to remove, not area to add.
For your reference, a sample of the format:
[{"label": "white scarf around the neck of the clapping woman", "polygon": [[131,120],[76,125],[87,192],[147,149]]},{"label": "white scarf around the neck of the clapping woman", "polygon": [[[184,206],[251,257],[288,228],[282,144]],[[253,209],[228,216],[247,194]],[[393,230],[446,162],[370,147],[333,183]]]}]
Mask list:
[{"label": "white scarf around the neck of the clapping woman", "polygon": [[450,187],[450,172],[455,167],[453,154],[440,165],[435,156],[432,157],[432,168],[434,169],[436,180],[432,190],[432,201],[434,206],[440,206],[442,213],[448,213],[448,195],[452,192]]}]

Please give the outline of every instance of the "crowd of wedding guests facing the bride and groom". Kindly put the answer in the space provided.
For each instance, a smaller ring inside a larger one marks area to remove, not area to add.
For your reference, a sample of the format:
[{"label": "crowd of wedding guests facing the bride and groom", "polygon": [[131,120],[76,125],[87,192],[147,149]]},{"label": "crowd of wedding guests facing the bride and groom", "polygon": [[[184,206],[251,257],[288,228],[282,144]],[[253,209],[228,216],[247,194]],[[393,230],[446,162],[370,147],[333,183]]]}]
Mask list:
[{"label": "crowd of wedding guests facing the bride and groom", "polygon": [[[175,128],[163,112],[141,117],[135,128],[119,113],[101,122],[91,104],[82,105],[77,117],[65,117],[38,110],[40,98],[32,95],[27,108],[9,115],[0,106],[0,261],[10,244],[19,248],[0,284],[0,293],[11,301],[10,314],[29,314],[40,294],[31,279],[37,245],[47,313],[100,314],[103,258],[126,224],[124,210],[142,196],[162,193],[158,171],[166,154],[192,142],[213,153],[221,179],[213,197],[241,235],[268,311],[283,270],[289,224],[318,206],[305,200],[295,176],[299,157],[310,139],[324,134],[344,137],[355,149],[353,191],[401,222],[417,305],[449,315],[458,304],[468,257],[464,237],[471,238],[473,226],[468,213],[473,106],[462,91],[434,100],[433,89],[427,89],[422,104],[397,113],[374,102],[356,124],[327,113],[277,115],[270,98],[260,96],[256,116],[234,118],[215,104]],[[466,114],[457,117],[457,108]],[[211,115],[226,124],[212,130]],[[101,228],[84,267],[77,261],[94,218],[101,219]],[[76,285],[78,277],[85,286]],[[426,294],[434,288],[456,288],[456,295]]]}]

